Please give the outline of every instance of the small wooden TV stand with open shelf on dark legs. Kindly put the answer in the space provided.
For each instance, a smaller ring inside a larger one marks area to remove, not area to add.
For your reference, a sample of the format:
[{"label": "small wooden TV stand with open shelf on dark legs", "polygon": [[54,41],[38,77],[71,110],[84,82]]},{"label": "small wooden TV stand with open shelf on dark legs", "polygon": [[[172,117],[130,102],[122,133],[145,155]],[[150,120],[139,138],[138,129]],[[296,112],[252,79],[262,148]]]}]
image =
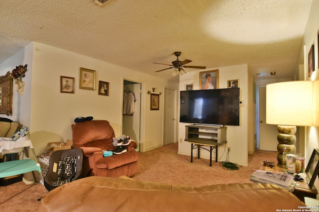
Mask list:
[{"label": "small wooden TV stand with open shelf on dark legs", "polygon": [[[193,149],[197,148],[197,158],[199,159],[199,150],[200,148],[206,149],[210,152],[210,163],[211,166],[211,158],[212,158],[212,151],[216,149],[216,158],[215,161],[217,162],[218,159],[218,145],[223,145],[227,142],[226,140],[226,127],[213,127],[211,125],[188,125],[185,126],[185,141],[191,143],[191,152],[190,152],[190,162],[193,162]],[[209,149],[205,148],[204,146],[209,146]]]}]

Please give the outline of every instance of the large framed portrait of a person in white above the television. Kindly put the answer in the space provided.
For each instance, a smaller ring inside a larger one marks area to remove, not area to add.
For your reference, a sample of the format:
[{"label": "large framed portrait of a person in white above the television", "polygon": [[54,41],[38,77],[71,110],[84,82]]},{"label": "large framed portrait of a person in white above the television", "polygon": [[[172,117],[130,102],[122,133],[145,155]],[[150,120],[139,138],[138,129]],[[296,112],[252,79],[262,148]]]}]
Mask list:
[{"label": "large framed portrait of a person in white above the television", "polygon": [[201,90],[218,88],[218,70],[199,72],[199,86]]}]

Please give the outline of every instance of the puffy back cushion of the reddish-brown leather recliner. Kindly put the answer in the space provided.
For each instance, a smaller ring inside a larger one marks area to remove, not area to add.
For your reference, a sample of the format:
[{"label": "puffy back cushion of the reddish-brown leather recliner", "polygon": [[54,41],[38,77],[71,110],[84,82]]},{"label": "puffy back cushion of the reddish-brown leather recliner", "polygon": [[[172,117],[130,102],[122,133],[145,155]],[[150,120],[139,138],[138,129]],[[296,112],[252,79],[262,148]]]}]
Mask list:
[{"label": "puffy back cushion of the reddish-brown leather recliner", "polygon": [[84,121],[73,124],[72,139],[74,148],[99,147],[103,150],[112,150],[115,133],[106,120]]}]

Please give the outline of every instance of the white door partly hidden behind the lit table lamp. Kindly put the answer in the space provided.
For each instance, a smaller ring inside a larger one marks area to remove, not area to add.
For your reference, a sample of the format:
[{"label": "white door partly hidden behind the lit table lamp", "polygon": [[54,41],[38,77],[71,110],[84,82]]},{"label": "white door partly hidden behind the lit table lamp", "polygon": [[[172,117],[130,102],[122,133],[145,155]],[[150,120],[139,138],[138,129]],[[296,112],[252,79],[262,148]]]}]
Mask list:
[{"label": "white door partly hidden behind the lit table lamp", "polygon": [[277,125],[266,124],[266,87],[259,87],[259,120],[257,121],[259,121],[259,149],[277,151]]}]

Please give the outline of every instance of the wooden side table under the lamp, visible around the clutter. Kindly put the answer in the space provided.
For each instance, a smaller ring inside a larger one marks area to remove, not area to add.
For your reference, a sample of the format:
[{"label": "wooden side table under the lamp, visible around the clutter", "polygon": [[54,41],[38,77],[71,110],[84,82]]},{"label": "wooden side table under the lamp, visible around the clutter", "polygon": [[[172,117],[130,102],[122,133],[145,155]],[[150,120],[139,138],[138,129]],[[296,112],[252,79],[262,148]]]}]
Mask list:
[{"label": "wooden side table under the lamp, visible around the clutter", "polygon": [[[283,173],[284,169],[275,166],[274,168],[271,168],[269,166],[264,166],[263,163],[261,163],[259,170],[261,171],[268,171],[268,172],[276,172],[276,173]],[[293,194],[298,197],[301,201],[305,202],[305,197],[310,197],[310,198],[317,198],[318,191],[316,187],[314,186],[313,188],[310,188],[308,186],[307,180],[305,179],[304,182],[299,182],[296,181],[296,186],[295,186],[295,191]]]}]

